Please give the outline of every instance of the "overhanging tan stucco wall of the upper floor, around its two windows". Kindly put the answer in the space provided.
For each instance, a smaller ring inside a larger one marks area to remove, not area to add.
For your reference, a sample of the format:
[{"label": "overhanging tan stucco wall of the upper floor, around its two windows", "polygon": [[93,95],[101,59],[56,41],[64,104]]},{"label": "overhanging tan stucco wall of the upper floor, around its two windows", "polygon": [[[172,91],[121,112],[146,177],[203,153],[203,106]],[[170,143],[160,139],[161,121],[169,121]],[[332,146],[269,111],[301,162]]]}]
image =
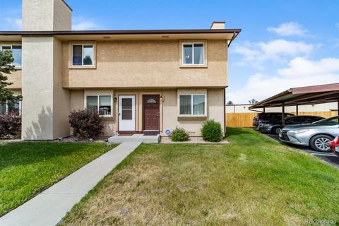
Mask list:
[{"label": "overhanging tan stucco wall of the upper floor, around its two windows", "polygon": [[95,69],[69,69],[71,49],[69,42],[64,42],[63,85],[65,88],[226,87],[227,41],[206,42],[208,65],[203,68],[180,67],[179,40],[97,42]]}]

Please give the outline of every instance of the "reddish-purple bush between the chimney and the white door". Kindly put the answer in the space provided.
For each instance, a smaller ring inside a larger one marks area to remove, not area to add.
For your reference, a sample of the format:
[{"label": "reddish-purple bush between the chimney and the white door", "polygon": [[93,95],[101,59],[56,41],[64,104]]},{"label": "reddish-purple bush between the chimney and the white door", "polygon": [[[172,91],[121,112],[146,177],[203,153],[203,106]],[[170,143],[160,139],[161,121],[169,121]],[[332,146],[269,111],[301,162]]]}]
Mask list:
[{"label": "reddish-purple bush between the chimney and the white door", "polygon": [[74,135],[85,139],[97,138],[104,128],[102,118],[94,109],[71,112],[69,124],[74,129]]}]

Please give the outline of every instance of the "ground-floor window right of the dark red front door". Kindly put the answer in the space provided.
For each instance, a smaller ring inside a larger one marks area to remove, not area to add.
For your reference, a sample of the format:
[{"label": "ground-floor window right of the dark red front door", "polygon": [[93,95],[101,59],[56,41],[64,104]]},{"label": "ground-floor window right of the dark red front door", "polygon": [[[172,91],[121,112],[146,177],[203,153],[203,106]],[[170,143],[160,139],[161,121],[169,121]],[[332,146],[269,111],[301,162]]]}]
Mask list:
[{"label": "ground-floor window right of the dark red front door", "polygon": [[179,95],[179,114],[205,115],[206,95]]}]

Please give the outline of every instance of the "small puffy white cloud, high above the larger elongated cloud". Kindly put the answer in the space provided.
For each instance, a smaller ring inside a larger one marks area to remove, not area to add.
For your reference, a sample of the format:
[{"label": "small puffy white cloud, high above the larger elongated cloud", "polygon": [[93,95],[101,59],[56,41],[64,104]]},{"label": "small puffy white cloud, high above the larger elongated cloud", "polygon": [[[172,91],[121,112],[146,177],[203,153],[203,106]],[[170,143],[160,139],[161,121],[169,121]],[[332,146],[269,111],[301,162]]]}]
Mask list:
[{"label": "small puffy white cloud, high above the larger elongated cloud", "polygon": [[277,28],[270,27],[267,30],[280,36],[305,36],[307,34],[307,30],[302,28],[301,24],[295,22],[282,23]]}]

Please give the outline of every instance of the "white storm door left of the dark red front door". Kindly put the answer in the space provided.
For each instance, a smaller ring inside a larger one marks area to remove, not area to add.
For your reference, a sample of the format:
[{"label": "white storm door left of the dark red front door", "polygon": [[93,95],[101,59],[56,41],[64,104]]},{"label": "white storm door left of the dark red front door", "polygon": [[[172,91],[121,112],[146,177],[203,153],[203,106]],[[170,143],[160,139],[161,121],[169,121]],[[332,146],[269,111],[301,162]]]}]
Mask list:
[{"label": "white storm door left of the dark red front door", "polygon": [[119,95],[119,131],[136,131],[136,96]]}]

